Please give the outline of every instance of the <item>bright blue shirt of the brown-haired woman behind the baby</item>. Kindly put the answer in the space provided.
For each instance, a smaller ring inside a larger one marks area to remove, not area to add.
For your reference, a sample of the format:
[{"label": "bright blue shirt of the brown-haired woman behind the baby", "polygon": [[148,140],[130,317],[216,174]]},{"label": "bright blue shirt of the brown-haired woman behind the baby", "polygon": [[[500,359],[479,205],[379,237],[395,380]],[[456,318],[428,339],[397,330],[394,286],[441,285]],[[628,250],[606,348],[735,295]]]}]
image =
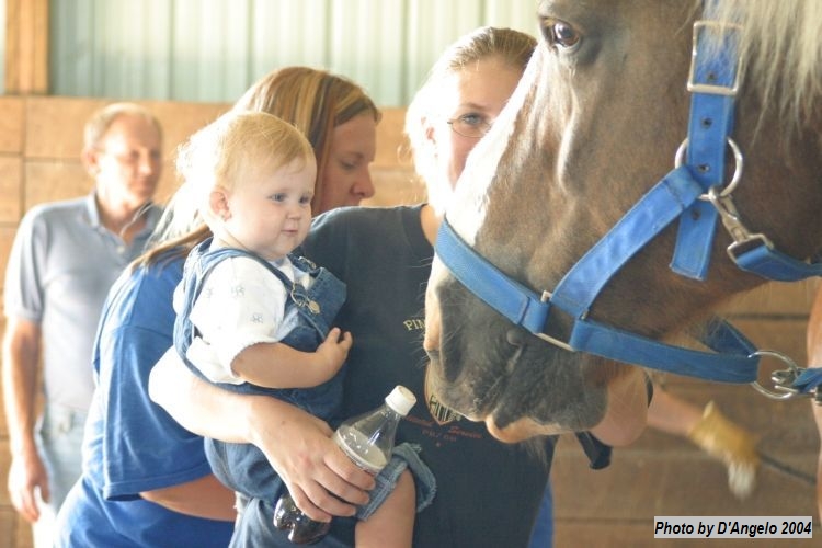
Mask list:
[{"label": "bright blue shirt of the brown-haired woman behind the baby", "polygon": [[109,295],[94,346],[98,381],[83,476],[58,517],[56,546],[222,547],[232,523],[172,512],[139,496],[210,473],[203,438],[148,396],[151,367],[172,345],[172,294],[183,260],[125,272]]}]

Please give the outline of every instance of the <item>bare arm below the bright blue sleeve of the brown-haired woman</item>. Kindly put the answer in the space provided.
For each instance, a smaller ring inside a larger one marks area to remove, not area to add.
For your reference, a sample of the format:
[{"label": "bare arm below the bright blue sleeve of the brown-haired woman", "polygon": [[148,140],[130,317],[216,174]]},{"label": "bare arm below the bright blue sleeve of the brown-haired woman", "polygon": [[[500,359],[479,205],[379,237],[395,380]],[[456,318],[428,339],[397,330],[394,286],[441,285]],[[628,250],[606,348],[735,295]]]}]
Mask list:
[{"label": "bare arm below the bright blue sleeve of the brown-haired woman", "polygon": [[181,514],[222,522],[233,522],[237,517],[235,492],[212,475],[164,489],[144,491],[140,496]]}]

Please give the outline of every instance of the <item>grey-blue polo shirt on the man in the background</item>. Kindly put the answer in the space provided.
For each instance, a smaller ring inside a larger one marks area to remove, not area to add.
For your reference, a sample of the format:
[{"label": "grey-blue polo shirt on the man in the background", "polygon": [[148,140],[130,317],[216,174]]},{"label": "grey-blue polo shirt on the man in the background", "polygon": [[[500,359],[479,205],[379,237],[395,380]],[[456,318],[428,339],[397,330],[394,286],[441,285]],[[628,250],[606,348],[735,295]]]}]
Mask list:
[{"label": "grey-blue polo shirt on the man in the background", "polygon": [[142,252],[160,213],[150,207],[129,246],[101,225],[93,192],[37,205],[23,217],[5,271],[4,311],[41,324],[49,403],[89,408],[92,344],[105,296]]}]

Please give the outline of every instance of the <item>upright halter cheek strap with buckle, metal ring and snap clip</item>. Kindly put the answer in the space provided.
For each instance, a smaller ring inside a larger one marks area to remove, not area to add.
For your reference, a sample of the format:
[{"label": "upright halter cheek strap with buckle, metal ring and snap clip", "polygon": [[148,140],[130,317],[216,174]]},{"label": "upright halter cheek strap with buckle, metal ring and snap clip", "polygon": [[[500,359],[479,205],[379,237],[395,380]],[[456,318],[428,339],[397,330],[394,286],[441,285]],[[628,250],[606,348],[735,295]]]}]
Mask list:
[{"label": "upright halter cheek strap with buckle, metal ring and snap clip", "polygon": [[[711,2],[707,2],[710,10]],[[688,137],[676,153],[676,167],[688,168],[703,189],[681,216],[671,269],[683,276],[705,281],[717,219],[731,236],[728,256],[745,272],[766,279],[797,282],[822,275],[822,263],[798,261],[777,249],[764,235],[751,232],[733,203],[742,175],[742,153],[733,133],[734,105],[741,77],[738,52],[741,26],[717,21],[694,23],[693,52],[687,89],[690,96]],[[735,161],[731,182],[723,186],[726,150]],[[683,162],[683,156],[686,156]]]}]

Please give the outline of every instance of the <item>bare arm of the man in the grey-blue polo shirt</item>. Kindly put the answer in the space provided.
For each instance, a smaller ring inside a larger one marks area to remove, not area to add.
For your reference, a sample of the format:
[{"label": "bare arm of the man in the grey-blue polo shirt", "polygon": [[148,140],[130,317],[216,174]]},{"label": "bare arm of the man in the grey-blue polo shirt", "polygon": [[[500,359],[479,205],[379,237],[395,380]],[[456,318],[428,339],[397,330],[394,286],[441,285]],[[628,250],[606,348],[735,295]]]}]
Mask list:
[{"label": "bare arm of the man in the grey-blue polo shirt", "polygon": [[20,514],[30,522],[39,517],[35,489],[48,500],[48,476],[34,442],[37,366],[42,332],[39,324],[9,318],[3,336],[2,385],[9,429],[11,468],[9,494]]}]

